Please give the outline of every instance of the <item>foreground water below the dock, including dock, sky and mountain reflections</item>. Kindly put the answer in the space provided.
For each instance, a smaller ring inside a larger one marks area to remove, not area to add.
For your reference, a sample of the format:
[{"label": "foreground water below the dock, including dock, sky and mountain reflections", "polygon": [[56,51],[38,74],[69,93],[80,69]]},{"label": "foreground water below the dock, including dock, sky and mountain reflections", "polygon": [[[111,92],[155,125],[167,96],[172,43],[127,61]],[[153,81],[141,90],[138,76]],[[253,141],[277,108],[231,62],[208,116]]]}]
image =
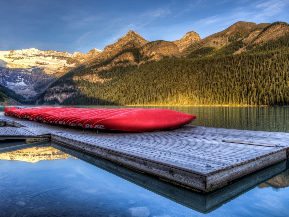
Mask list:
[{"label": "foreground water below the dock, including dock, sky and mountain reflections", "polygon": [[241,207],[232,203],[251,189],[287,190],[288,160],[204,194],[55,143],[48,147],[43,147],[47,142],[37,143],[38,147],[33,145],[3,148],[0,145],[1,215],[121,217],[131,207],[146,207],[150,217],[206,213],[210,213],[206,216],[286,216],[288,213],[288,206],[287,210],[281,207],[279,211],[259,211],[257,207],[256,211],[248,208],[249,202],[243,201]]}]

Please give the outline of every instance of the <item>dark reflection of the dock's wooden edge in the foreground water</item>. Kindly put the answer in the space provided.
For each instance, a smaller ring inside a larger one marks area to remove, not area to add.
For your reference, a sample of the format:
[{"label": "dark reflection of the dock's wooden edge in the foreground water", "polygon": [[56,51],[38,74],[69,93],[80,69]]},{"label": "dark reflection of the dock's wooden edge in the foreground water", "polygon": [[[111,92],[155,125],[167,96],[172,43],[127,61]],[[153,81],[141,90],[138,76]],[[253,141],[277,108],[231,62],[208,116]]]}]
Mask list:
[{"label": "dark reflection of the dock's wooden edge in the foreground water", "polygon": [[219,190],[206,194],[200,194],[194,191],[186,190],[185,188],[177,185],[161,181],[160,179],[157,179],[157,177],[147,176],[146,174],[125,168],[106,159],[73,150],[57,143],[51,142],[51,146],[181,205],[189,207],[190,209],[194,209],[202,213],[212,212],[230,200],[244,194],[264,181],[267,181],[273,176],[276,176],[277,174],[280,174],[288,169],[288,160],[282,161],[281,163],[268,167],[264,170],[259,170],[257,173],[237,179]]}]

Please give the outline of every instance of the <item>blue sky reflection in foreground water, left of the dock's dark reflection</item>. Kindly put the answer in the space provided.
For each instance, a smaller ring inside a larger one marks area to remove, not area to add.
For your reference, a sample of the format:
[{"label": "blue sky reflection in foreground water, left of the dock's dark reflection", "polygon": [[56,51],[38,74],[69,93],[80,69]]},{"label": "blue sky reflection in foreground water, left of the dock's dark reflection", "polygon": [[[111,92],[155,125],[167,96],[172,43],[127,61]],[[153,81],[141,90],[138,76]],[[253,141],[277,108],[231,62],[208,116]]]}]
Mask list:
[{"label": "blue sky reflection in foreground water, left of the dock's dark reflection", "polygon": [[74,158],[0,164],[3,216],[122,216],[131,207],[166,213],[159,196]]}]

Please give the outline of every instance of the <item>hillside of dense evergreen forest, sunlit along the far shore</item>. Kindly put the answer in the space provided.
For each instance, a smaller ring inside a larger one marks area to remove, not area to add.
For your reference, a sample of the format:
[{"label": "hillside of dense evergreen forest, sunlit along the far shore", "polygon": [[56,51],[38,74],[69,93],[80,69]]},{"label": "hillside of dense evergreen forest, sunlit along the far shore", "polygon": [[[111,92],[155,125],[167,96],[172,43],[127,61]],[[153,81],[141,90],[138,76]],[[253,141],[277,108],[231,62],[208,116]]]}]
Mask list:
[{"label": "hillside of dense evergreen forest, sunlit along the far shore", "polygon": [[[235,53],[239,49],[246,52]],[[53,87],[69,87],[69,105],[289,105],[289,36],[266,43],[236,40],[216,49],[194,50],[186,58],[72,71]],[[55,94],[57,89],[55,89]],[[38,104],[60,103],[57,98]]]}]

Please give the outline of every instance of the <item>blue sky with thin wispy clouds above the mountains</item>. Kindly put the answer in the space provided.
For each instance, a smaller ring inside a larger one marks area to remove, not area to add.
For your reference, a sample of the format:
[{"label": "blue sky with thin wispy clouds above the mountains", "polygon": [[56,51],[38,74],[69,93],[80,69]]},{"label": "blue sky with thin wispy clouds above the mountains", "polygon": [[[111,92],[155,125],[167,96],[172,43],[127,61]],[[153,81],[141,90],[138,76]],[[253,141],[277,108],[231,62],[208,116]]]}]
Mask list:
[{"label": "blue sky with thin wispy clouds above the mountains", "polygon": [[103,50],[129,30],[147,41],[201,38],[238,21],[289,23],[288,0],[0,0],[0,50]]}]

